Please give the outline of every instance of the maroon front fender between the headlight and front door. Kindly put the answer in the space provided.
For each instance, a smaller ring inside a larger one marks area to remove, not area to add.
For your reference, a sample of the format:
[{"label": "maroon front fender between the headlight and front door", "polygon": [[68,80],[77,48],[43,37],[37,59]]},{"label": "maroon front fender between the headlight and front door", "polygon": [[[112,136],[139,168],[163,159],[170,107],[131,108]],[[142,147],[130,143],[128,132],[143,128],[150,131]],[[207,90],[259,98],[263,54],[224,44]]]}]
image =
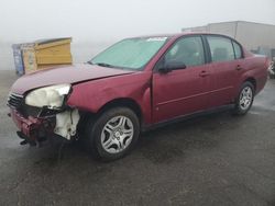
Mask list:
[{"label": "maroon front fender between the headlight and front door", "polygon": [[134,72],[74,84],[67,104],[81,111],[98,113],[112,101],[130,99],[140,106],[144,123],[150,124],[151,77],[152,72]]}]

